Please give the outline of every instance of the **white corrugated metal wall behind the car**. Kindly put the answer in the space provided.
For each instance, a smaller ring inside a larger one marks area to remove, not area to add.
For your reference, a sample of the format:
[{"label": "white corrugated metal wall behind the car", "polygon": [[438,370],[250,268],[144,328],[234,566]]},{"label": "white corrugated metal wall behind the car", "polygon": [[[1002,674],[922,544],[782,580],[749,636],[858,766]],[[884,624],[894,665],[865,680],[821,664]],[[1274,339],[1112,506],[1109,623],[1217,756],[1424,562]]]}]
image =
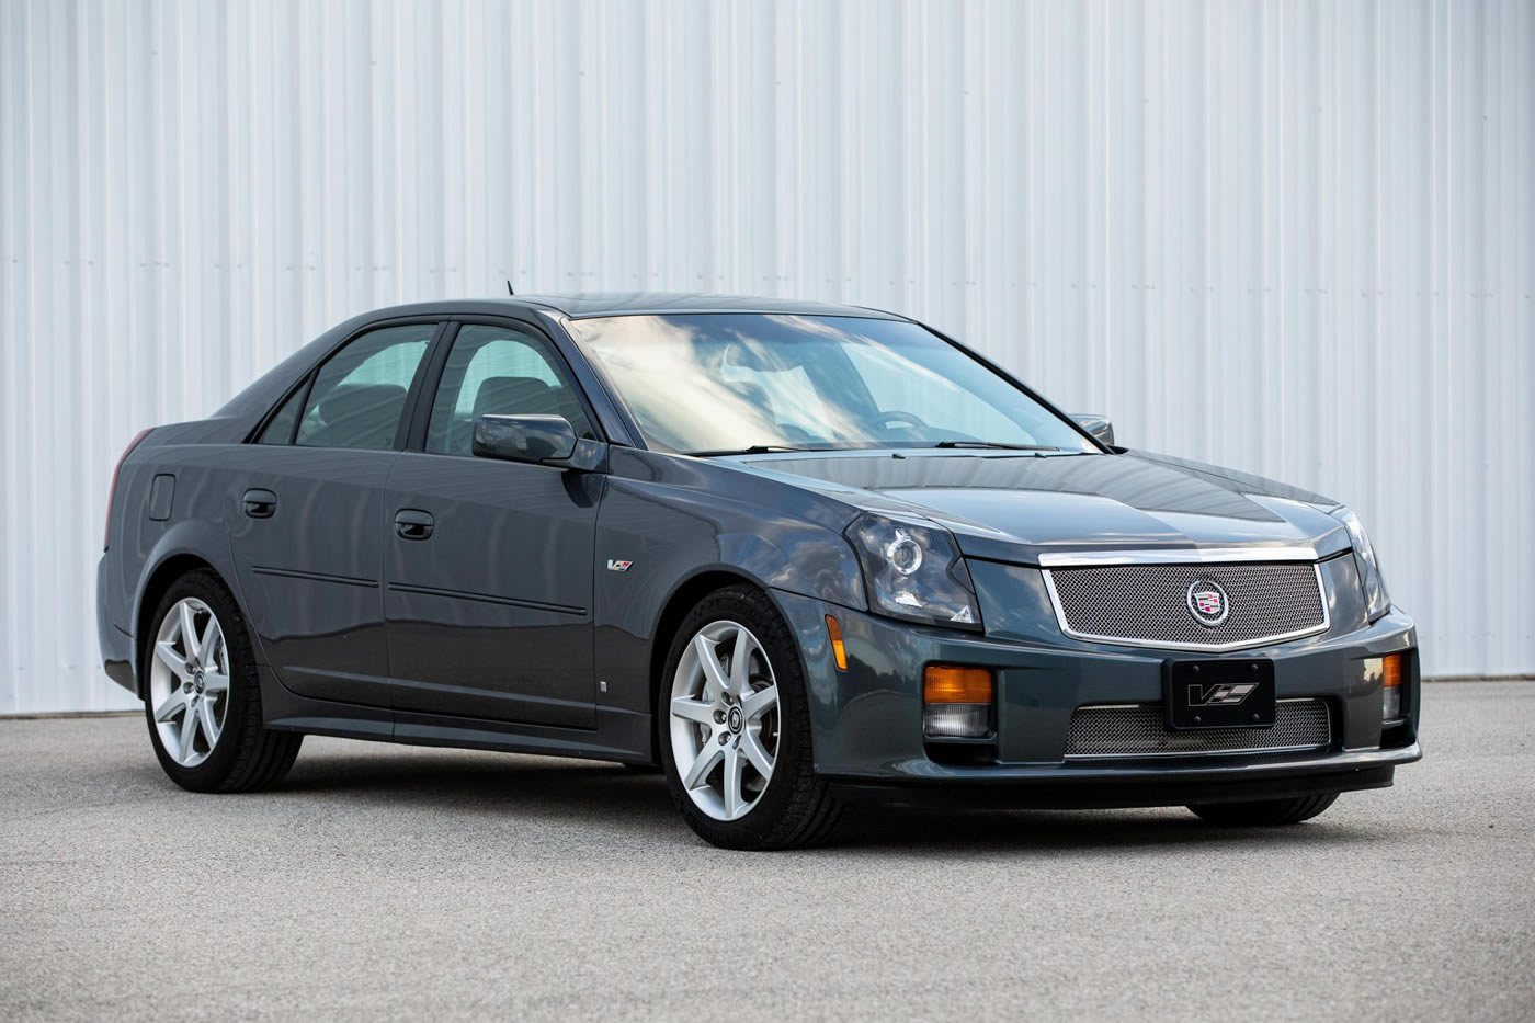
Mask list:
[{"label": "white corrugated metal wall behind the car", "polygon": [[355,312],[926,318],[1354,504],[1432,674],[1535,671],[1535,9],[0,0],[0,713],[97,664],[107,478]]}]

